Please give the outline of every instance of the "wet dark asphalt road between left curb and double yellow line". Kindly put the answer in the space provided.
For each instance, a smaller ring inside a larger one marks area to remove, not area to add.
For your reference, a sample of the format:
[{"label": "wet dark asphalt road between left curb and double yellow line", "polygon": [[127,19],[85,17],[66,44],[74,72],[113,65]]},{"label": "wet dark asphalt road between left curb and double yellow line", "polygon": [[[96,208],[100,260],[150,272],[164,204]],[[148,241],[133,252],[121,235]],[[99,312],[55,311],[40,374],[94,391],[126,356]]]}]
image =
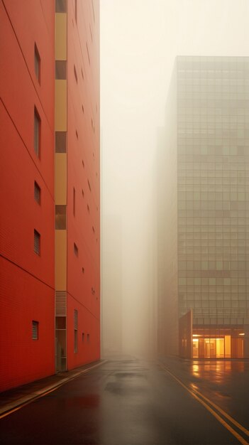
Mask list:
[{"label": "wet dark asphalt road between left curb and double yellow line", "polygon": [[[177,378],[191,385],[194,377],[191,366],[184,368],[179,360],[165,366],[171,366],[171,372],[175,368]],[[209,381],[208,375],[205,378]],[[211,390],[206,391],[212,397]],[[228,445],[241,442],[161,365],[131,358],[108,360],[4,417],[0,420],[0,443]]]}]

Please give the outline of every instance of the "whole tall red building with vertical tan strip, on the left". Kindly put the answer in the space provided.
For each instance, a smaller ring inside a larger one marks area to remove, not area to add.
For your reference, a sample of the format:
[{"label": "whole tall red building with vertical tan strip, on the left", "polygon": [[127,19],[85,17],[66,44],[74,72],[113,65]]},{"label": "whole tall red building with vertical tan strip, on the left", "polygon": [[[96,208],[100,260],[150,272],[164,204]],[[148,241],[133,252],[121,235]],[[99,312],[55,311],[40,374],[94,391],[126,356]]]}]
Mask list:
[{"label": "whole tall red building with vertical tan strip, on the left", "polygon": [[99,2],[0,1],[0,390],[99,358]]}]

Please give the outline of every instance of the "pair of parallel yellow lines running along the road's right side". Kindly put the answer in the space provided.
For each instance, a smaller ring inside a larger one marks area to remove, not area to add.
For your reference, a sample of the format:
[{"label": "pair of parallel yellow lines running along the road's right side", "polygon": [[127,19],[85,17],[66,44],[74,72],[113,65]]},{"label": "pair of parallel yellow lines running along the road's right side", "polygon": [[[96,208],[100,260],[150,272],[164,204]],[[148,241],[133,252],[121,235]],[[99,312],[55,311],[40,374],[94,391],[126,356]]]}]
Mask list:
[{"label": "pair of parallel yellow lines running along the road's right side", "polygon": [[[170,370],[165,368],[165,366],[161,365],[161,368],[165,372],[167,372],[167,374],[169,374],[173,379],[175,379],[179,383],[179,385],[184,387],[184,389],[187,390],[187,392],[189,392],[189,394],[191,394],[192,397],[194,397],[194,399],[198,400],[199,403],[201,403],[209,412],[211,412],[211,414],[213,414],[213,416],[218,420],[218,422],[220,422],[223,425],[223,427],[228,429],[228,431],[230,431],[231,434],[233,434],[233,436],[235,436],[236,439],[238,439],[238,441],[240,441],[240,444],[249,445],[249,442],[246,441],[243,438],[243,436],[240,436],[240,434],[238,434],[238,432],[235,429],[233,429],[233,427],[231,427],[231,425],[229,425],[225,419],[227,419],[231,424],[233,424],[236,428],[238,428],[238,430],[240,432],[242,432],[243,434],[245,434],[245,436],[249,436],[248,429],[243,427],[243,425],[240,425],[235,419],[233,419],[233,417],[229,416],[229,414],[227,414],[225,411],[223,411],[223,409],[218,407],[218,405],[216,405],[214,402],[211,402],[211,400],[209,400],[208,397],[201,394],[201,392],[199,392],[197,390],[191,390],[189,387],[184,385],[184,383],[181,380],[179,380],[174,374],[172,374],[172,372],[170,372]],[[216,411],[214,411],[213,408]],[[225,417],[225,419],[223,419],[221,416]]]}]

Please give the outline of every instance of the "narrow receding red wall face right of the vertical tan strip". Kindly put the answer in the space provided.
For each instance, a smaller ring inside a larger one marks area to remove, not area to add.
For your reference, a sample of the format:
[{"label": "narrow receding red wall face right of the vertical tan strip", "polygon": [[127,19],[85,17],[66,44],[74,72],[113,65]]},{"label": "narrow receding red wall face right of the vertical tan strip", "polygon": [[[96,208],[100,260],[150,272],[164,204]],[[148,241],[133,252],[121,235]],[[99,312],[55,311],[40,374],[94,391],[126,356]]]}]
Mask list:
[{"label": "narrow receding red wall face right of the vertical tan strip", "polygon": [[[67,43],[67,367],[71,369],[100,356],[98,1],[78,1],[77,21],[74,2],[68,3]],[[79,317],[77,353],[74,309]]]}]

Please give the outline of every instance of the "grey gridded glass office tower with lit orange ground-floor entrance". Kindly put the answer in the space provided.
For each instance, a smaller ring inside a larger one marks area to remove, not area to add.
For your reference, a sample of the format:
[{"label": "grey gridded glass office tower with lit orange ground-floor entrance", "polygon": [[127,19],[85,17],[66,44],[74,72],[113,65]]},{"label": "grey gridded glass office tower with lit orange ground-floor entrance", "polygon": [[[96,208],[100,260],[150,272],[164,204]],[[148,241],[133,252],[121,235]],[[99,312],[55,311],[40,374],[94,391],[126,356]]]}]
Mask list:
[{"label": "grey gridded glass office tower with lit orange ground-floor entrance", "polygon": [[248,357],[249,58],[178,57],[170,94],[165,243],[177,281],[164,291],[178,311],[179,353]]}]

